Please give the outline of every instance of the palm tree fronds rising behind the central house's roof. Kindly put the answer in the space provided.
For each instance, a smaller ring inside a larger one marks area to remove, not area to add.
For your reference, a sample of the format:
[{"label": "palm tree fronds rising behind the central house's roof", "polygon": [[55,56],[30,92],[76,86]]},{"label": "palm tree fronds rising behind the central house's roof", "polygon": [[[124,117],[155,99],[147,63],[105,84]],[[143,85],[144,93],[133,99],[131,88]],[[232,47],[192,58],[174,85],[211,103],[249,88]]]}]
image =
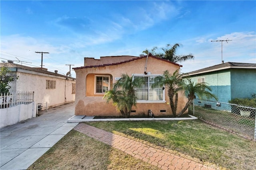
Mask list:
[{"label": "palm tree fronds rising behind the central house's roof", "polygon": [[173,46],[171,46],[170,44],[167,44],[166,48],[161,48],[164,51],[164,53],[156,52],[158,47],[153,47],[151,51],[146,49],[142,53],[146,53],[146,54],[151,53],[156,57],[166,59],[174,63],[183,62],[189,59],[194,59],[194,56],[191,53],[189,55],[176,55],[176,51],[178,47],[180,47],[180,44],[178,43],[174,44]]}]

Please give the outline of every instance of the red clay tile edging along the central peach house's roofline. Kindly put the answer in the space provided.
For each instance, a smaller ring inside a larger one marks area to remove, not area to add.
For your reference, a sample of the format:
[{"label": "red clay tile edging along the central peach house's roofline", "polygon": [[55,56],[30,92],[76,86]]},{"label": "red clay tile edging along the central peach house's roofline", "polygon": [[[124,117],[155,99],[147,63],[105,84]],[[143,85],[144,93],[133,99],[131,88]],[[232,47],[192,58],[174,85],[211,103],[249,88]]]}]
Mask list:
[{"label": "red clay tile edging along the central peach house's roofline", "polygon": [[[113,57],[113,56],[112,56],[112,57]],[[116,56],[116,57],[118,57],[118,56]],[[147,57],[147,56],[144,55],[144,56],[142,56],[142,57],[136,57],[136,58],[133,58],[133,59],[130,59],[130,60],[127,60],[127,61],[118,62],[118,63],[109,63],[109,64],[82,66],[82,67],[75,67],[75,68],[72,68],[72,69],[77,70],[77,69],[82,69],[82,68],[93,68],[93,67],[112,66],[112,65],[118,65],[118,64],[128,63],[128,62],[135,61],[135,60],[140,60],[140,59],[143,59],[143,58],[146,58],[146,57]],[[154,58],[154,59],[162,60],[162,61],[165,61],[165,62],[168,62],[168,63],[172,63],[172,64],[174,64],[174,65],[177,65],[177,66],[182,67],[182,65],[180,65],[180,64],[173,63],[173,62],[170,62],[170,61],[168,61],[168,60],[155,57],[155,56],[153,56],[153,55],[148,55],[148,57],[152,57],[152,58]]]}]

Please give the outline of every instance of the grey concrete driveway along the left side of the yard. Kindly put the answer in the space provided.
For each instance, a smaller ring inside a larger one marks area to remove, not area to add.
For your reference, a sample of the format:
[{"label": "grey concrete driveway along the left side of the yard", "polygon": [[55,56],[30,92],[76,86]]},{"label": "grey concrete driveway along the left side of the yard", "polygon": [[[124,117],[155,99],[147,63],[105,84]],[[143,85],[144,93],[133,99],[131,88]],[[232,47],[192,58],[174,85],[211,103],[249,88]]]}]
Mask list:
[{"label": "grey concrete driveway along the left side of the yard", "polygon": [[41,111],[39,117],[0,129],[0,169],[25,170],[78,123],[74,102]]}]

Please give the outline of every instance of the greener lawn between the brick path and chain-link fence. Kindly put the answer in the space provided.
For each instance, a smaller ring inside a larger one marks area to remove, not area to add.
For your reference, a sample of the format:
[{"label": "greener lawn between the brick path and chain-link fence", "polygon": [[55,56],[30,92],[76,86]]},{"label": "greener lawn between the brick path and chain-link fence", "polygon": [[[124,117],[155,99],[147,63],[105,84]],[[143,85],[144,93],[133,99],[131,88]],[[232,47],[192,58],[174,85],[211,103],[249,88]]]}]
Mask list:
[{"label": "greener lawn between the brick path and chain-link fence", "polygon": [[[192,159],[202,164],[218,164],[230,169],[253,169],[252,154],[248,154],[246,141],[200,120],[192,121],[118,121],[90,122],[100,129],[132,138],[158,149]],[[256,145],[254,145],[256,146]],[[240,160],[234,154],[239,152]],[[246,152],[246,153],[244,153]],[[242,165],[243,164],[243,165]]]}]

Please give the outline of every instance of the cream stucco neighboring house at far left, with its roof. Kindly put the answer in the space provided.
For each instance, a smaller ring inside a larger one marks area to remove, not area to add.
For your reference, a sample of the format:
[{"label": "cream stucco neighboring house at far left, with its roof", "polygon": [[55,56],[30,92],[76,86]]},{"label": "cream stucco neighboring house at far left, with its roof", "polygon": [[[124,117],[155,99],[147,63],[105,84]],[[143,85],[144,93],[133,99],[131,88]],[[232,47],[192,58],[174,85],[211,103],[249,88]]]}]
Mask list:
[{"label": "cream stucco neighboring house at far left, with its roof", "polygon": [[[76,79],[46,68],[34,68],[14,63],[0,63],[19,76],[12,82],[10,92],[34,92],[35,108],[38,104],[54,107],[75,100]],[[44,109],[44,108],[43,108]]]}]

